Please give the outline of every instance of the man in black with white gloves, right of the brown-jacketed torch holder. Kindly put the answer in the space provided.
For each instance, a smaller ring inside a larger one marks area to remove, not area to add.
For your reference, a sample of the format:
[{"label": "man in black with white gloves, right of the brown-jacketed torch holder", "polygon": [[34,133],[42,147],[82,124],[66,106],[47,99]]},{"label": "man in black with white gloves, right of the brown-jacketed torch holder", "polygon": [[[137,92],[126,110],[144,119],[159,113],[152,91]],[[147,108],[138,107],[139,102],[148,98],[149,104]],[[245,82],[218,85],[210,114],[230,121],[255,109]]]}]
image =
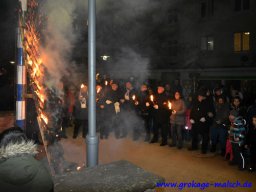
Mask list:
[{"label": "man in black with white gloves, right of the brown-jacketed torch holder", "polygon": [[196,101],[193,103],[190,122],[192,124],[192,146],[189,150],[197,150],[198,148],[198,136],[202,136],[202,154],[207,153],[207,147],[209,142],[209,110],[208,103],[206,101],[206,91],[201,89],[198,92]]}]

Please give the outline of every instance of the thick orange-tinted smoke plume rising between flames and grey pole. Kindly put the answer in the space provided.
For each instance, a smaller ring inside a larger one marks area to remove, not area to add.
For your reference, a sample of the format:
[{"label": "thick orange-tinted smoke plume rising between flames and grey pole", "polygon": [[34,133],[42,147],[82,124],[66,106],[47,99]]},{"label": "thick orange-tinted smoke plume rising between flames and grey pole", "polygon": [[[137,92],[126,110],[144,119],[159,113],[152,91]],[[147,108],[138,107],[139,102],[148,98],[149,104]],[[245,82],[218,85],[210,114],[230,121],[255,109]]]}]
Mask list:
[{"label": "thick orange-tinted smoke plume rising between flames and grey pole", "polygon": [[[46,29],[43,30],[41,57],[49,73],[46,86],[58,88],[64,75],[74,73],[72,50],[78,34],[73,28],[75,1],[47,0],[42,12],[47,16]],[[74,79],[73,79],[74,80]]]}]

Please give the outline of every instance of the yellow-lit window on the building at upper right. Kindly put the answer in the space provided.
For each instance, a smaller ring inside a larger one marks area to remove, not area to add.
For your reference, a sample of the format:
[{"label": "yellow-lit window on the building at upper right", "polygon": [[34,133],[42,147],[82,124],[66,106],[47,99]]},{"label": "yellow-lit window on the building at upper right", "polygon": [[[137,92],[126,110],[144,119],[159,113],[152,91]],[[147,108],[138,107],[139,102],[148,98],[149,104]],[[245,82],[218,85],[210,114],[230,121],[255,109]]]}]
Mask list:
[{"label": "yellow-lit window on the building at upper right", "polygon": [[250,50],[250,32],[242,32],[234,34],[234,51]]}]

